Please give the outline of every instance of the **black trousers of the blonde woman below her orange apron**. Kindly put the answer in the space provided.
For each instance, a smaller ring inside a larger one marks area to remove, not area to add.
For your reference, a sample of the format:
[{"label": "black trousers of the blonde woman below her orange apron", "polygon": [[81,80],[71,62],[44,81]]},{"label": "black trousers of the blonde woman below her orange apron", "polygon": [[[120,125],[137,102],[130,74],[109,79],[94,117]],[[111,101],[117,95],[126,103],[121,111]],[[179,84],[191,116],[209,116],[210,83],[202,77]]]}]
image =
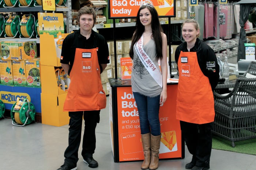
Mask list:
[{"label": "black trousers of the blonde woman below her orange apron", "polygon": [[182,136],[187,144],[189,153],[193,155],[191,162],[196,166],[210,166],[212,124],[212,122],[195,124],[180,121]]}]

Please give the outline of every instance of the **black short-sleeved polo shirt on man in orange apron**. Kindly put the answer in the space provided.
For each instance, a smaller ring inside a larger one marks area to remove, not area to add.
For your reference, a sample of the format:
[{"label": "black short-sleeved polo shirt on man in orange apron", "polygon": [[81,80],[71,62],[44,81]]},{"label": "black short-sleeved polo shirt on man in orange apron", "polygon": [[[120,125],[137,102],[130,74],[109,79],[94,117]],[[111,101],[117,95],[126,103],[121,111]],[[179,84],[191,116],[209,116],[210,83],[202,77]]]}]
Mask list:
[{"label": "black short-sleeved polo shirt on man in orange apron", "polygon": [[68,75],[74,64],[76,48],[81,48],[81,49],[96,48],[94,44],[96,45],[96,47],[98,47],[98,51],[97,51],[98,62],[102,72],[101,64],[109,63],[109,48],[105,38],[102,35],[91,30],[90,38],[86,39],[86,37],[80,34],[80,29],[79,29],[78,31],[70,33],[67,37],[65,37],[62,44],[62,50],[61,50],[61,56],[63,58],[62,60],[60,60],[60,63],[70,64]]}]

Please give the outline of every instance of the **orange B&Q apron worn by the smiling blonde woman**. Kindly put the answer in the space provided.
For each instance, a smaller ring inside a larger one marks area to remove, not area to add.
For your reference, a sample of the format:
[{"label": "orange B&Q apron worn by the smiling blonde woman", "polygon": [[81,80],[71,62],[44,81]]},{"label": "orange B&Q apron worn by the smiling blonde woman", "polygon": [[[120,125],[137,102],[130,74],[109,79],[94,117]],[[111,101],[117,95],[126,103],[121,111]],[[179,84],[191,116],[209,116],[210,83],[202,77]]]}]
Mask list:
[{"label": "orange B&Q apron worn by the smiling blonde woman", "polygon": [[176,118],[204,124],[214,121],[214,98],[208,77],[201,71],[196,52],[182,52],[178,59]]}]

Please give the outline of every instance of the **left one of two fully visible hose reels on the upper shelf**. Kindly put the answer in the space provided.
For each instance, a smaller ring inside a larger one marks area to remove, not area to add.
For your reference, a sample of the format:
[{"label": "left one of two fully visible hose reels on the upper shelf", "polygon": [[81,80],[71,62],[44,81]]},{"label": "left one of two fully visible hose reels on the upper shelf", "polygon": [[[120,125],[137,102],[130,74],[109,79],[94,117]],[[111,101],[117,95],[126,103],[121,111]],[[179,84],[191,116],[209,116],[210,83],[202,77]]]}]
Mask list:
[{"label": "left one of two fully visible hose reels on the upper shelf", "polygon": [[4,37],[15,38],[19,33],[19,15],[12,15],[4,21]]}]

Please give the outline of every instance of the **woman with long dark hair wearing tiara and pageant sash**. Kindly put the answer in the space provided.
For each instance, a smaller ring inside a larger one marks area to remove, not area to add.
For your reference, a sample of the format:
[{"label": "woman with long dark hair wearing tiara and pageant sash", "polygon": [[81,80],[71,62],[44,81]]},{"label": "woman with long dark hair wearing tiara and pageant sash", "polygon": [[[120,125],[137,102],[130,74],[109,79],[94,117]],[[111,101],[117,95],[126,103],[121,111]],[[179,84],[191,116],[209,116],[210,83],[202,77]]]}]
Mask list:
[{"label": "woman with long dark hair wearing tiara and pageant sash", "polygon": [[144,151],[141,169],[155,170],[161,142],[159,107],[167,98],[167,39],[151,1],[142,3],[136,19],[129,55],[133,62],[132,92],[139,111]]}]

